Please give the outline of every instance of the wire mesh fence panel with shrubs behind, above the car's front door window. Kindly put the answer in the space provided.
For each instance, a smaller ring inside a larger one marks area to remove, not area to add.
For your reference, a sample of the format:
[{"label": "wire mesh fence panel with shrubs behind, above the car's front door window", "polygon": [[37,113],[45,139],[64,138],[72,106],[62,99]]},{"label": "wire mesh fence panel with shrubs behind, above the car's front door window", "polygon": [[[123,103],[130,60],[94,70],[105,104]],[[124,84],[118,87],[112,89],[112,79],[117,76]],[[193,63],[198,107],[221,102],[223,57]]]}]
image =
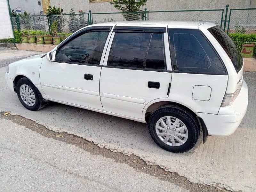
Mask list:
[{"label": "wire mesh fence panel with shrubs behind, above the car's front door window", "polygon": [[58,33],[74,33],[89,25],[89,14],[51,15],[50,22],[57,21]]}]

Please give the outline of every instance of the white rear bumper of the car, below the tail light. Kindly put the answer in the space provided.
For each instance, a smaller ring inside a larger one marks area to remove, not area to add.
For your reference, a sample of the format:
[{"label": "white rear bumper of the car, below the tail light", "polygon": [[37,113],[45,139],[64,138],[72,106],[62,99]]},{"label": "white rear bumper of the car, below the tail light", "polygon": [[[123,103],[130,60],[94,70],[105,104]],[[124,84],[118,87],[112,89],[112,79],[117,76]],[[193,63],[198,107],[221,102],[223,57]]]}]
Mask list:
[{"label": "white rear bumper of the car, below the tail light", "polygon": [[239,95],[231,106],[220,107],[218,115],[199,113],[203,119],[209,135],[228,136],[236,131],[248,105],[248,87],[245,81]]}]

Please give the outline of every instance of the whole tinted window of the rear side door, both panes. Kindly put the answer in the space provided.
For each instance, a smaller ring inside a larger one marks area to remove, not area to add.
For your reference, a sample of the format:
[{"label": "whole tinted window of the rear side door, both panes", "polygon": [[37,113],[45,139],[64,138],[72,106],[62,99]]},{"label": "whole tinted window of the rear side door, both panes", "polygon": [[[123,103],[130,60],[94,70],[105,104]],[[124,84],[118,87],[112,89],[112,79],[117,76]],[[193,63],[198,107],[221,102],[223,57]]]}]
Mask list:
[{"label": "whole tinted window of the rear side door, both panes", "polygon": [[163,34],[116,32],[107,65],[165,69]]}]

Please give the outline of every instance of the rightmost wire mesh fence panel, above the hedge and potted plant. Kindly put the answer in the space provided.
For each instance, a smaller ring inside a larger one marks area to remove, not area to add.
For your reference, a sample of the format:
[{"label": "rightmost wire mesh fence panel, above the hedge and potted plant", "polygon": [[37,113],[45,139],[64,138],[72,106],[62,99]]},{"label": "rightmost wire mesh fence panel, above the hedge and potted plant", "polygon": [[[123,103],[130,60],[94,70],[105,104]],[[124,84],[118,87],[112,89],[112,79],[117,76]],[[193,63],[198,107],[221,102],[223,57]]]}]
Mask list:
[{"label": "rightmost wire mesh fence panel, above the hedge and potted plant", "polygon": [[228,33],[256,33],[256,8],[230,9]]}]

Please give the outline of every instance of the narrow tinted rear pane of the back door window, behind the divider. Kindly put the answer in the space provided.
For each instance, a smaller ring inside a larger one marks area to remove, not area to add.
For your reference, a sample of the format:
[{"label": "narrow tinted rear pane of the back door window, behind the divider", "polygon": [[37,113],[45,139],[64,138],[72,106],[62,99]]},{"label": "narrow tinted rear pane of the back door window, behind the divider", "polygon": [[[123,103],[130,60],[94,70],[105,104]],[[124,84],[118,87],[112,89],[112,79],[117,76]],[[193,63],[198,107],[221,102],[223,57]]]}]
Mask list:
[{"label": "narrow tinted rear pane of the back door window, behind the divider", "polygon": [[145,68],[165,69],[164,42],[162,33],[152,34]]}]

